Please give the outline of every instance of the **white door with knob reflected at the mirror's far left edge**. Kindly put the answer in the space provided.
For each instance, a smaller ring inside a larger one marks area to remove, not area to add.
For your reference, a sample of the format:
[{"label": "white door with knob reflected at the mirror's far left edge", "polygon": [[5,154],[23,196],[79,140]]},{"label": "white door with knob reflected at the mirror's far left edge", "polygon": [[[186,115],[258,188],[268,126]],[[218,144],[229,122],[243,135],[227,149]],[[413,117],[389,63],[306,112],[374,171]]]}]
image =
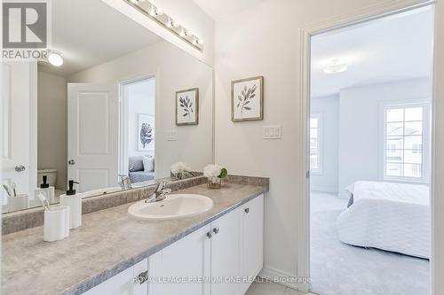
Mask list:
[{"label": "white door with knob reflected at the mirror's far left edge", "polygon": [[36,78],[36,62],[2,62],[2,177],[30,199],[37,175]]}]

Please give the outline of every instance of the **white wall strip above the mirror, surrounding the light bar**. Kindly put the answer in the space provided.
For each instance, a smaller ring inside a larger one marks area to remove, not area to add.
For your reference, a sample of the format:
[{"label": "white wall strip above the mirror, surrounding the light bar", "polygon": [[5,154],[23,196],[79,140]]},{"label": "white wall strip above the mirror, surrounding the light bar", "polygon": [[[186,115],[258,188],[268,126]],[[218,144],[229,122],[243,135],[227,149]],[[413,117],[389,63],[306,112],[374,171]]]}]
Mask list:
[{"label": "white wall strip above the mirror, surrounding the light bar", "polygon": [[155,20],[135,10],[122,0],[101,0],[104,3],[114,7],[124,15],[134,19],[141,26],[147,27],[153,33],[163,37],[166,41],[175,44],[178,48],[199,58],[206,64],[213,66],[214,63],[214,20],[211,19],[202,9],[194,3],[193,0],[152,0],[151,3],[163,9],[171,18],[194,32],[195,35],[202,38],[205,42],[204,50],[194,49],[193,46],[184,42],[177,35],[174,35],[164,27],[159,26]]}]

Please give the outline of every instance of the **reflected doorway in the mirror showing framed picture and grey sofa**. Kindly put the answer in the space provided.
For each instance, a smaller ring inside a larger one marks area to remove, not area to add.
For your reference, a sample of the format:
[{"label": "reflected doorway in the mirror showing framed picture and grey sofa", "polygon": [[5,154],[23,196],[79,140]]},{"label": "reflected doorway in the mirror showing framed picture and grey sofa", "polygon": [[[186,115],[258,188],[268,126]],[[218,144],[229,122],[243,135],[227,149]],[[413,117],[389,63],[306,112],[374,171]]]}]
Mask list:
[{"label": "reflected doorway in the mirror showing framed picture and grey sofa", "polygon": [[155,76],[123,82],[120,167],[131,183],[155,179]]}]

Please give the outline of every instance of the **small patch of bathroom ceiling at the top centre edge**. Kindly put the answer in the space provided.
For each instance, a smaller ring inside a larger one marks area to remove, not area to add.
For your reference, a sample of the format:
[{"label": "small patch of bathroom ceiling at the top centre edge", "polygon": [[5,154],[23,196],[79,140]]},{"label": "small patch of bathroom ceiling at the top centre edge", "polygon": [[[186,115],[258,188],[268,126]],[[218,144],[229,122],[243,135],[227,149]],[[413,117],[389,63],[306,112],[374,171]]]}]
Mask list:
[{"label": "small patch of bathroom ceiling at the top centre edge", "polygon": [[238,12],[264,0],[194,0],[212,19],[220,19],[231,12]]}]

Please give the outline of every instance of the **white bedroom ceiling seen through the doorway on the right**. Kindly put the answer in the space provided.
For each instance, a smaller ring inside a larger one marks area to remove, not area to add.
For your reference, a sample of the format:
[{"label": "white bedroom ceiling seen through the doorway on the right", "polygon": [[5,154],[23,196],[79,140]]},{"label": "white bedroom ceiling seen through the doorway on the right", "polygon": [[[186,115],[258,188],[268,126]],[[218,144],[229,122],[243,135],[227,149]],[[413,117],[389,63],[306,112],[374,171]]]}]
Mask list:
[{"label": "white bedroom ceiling seen through the doorway on the right", "polygon": [[[432,6],[337,29],[312,38],[312,96],[382,82],[428,77],[432,72]],[[324,74],[339,58],[348,70]]]}]

